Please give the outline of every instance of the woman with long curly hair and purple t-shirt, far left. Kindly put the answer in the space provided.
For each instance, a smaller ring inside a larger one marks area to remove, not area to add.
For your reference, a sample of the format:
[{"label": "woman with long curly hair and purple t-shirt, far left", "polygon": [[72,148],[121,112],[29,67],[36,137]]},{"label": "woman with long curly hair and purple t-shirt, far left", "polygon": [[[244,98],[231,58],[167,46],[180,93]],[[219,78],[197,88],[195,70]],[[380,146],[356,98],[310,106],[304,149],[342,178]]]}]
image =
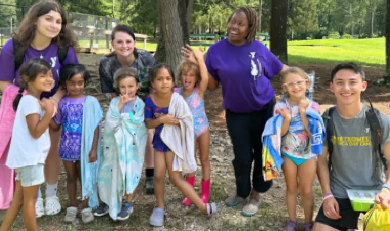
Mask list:
[{"label": "woman with long curly hair and purple t-shirt, far left", "polygon": [[[14,44],[15,43],[15,44]],[[17,46],[15,46],[17,44]],[[0,90],[4,92],[9,84],[18,85],[19,68],[13,60],[21,60],[21,63],[31,58],[41,58],[47,61],[53,71],[54,87],[50,93],[41,97],[54,101],[55,108],[65,95],[65,91],[58,88],[58,70],[60,64],[60,50],[62,64],[77,63],[74,47],[77,45],[76,36],[69,28],[66,12],[55,1],[42,1],[35,3],[21,22],[16,33],[4,44],[0,53]],[[14,51],[14,47],[18,47]],[[59,49],[61,47],[62,49]],[[66,57],[65,57],[66,56]],[[46,205],[39,191],[36,212],[37,216],[55,215],[61,211],[59,199],[56,196],[57,181],[60,171],[60,159],[58,157],[58,142],[60,132],[49,129],[50,150],[45,164],[46,179]],[[0,168],[3,167],[0,163]],[[3,172],[3,170],[1,170]]]}]

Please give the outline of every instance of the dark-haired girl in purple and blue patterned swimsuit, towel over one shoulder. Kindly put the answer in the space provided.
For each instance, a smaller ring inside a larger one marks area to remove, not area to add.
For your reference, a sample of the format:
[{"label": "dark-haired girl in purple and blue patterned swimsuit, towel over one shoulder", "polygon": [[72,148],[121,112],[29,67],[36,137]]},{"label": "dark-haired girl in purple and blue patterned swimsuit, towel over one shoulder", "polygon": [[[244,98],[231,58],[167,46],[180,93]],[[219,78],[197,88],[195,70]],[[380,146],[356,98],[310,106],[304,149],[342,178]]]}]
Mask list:
[{"label": "dark-haired girl in purple and blue patterned swimsuit, towel over one shoulder", "polygon": [[[70,200],[70,207],[67,208],[67,215],[64,221],[73,223],[77,215],[76,186],[77,179],[81,181],[81,139],[84,104],[87,96],[83,90],[89,82],[90,76],[85,67],[81,64],[64,65],[60,71],[60,85],[67,90],[66,95],[58,104],[58,113],[51,121],[53,130],[58,131],[62,126],[61,142],[59,145],[59,157],[67,172],[67,187]],[[91,97],[92,98],[92,97]],[[92,148],[89,152],[89,163],[97,159],[97,146],[99,139],[99,126],[93,134]],[[81,182],[85,184],[85,182]],[[88,197],[83,198],[82,221],[89,223],[93,220],[92,210],[88,207]]]}]

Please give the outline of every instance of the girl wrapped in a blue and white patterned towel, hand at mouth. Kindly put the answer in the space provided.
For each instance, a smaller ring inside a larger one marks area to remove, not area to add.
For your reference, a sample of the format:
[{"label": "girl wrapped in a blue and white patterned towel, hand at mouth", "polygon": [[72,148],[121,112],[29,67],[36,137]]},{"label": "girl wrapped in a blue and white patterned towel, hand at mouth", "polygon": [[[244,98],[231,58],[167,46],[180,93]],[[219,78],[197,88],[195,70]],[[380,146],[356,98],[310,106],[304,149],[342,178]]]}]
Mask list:
[{"label": "girl wrapped in a blue and white patterned towel, hand at mouth", "polygon": [[[136,96],[138,72],[120,68],[114,74],[119,97],[111,100],[104,127],[104,160],[99,172],[100,199],[95,216],[107,213],[113,220],[127,220],[145,159],[147,129],[145,103]],[[122,200],[122,197],[124,200]]]}]

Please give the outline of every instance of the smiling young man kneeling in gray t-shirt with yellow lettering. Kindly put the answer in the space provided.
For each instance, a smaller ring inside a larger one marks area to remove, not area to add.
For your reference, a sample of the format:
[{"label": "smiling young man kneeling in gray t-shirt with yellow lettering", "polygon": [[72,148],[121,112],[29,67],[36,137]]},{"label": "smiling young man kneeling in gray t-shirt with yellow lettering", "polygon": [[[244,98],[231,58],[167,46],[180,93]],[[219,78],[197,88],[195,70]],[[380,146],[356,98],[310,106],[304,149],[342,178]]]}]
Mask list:
[{"label": "smiling young man kneeling in gray t-shirt with yellow lettering", "polygon": [[[390,203],[390,177],[373,148],[365,114],[369,107],[360,102],[360,94],[367,88],[364,72],[354,63],[339,64],[331,77],[330,90],[337,99],[337,110],[331,115],[332,169],[329,172],[328,147],[324,145],[317,161],[323,204],[315,220],[315,231],[357,228],[359,212],[353,210],[347,189],[380,190],[375,198],[377,203],[384,207]],[[390,118],[383,113],[380,116],[382,151],[390,163]]]}]

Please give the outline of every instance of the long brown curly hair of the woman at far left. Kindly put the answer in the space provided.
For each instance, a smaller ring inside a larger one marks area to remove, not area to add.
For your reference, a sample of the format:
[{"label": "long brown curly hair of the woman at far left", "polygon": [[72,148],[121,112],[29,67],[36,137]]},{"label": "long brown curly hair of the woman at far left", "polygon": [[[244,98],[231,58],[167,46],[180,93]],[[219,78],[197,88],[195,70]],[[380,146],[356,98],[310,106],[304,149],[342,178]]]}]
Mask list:
[{"label": "long brown curly hair of the woman at far left", "polygon": [[71,25],[69,24],[68,15],[66,11],[63,10],[61,4],[54,0],[42,0],[30,7],[29,12],[21,21],[18,30],[12,34],[12,38],[22,45],[22,49],[15,55],[15,59],[17,57],[23,57],[27,48],[34,40],[36,34],[36,20],[50,11],[58,12],[62,18],[61,31],[57,36],[52,38],[52,41],[55,41],[59,47],[72,46],[75,49],[77,48],[76,34],[73,32]]}]

